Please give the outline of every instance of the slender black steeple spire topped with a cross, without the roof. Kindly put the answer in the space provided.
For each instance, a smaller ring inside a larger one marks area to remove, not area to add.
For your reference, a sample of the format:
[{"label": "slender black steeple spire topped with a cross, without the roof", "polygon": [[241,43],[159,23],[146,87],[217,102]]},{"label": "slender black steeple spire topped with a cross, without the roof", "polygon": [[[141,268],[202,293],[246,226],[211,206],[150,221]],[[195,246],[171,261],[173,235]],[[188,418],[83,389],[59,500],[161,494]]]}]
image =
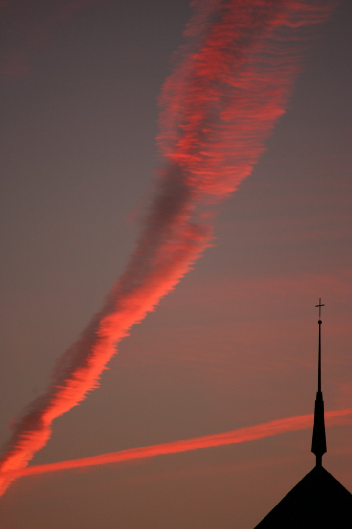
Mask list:
[{"label": "slender black steeple spire topped with a cross, without the roof", "polygon": [[325,423],[324,423],[324,400],[322,399],[321,393],[321,320],[320,320],[320,309],[324,307],[321,304],[319,298],[319,342],[318,342],[318,391],[314,408],[314,425],[313,425],[313,439],[312,439],[312,452],[316,455],[316,466],[321,467],[322,455],[326,452],[326,439],[325,439]]}]

